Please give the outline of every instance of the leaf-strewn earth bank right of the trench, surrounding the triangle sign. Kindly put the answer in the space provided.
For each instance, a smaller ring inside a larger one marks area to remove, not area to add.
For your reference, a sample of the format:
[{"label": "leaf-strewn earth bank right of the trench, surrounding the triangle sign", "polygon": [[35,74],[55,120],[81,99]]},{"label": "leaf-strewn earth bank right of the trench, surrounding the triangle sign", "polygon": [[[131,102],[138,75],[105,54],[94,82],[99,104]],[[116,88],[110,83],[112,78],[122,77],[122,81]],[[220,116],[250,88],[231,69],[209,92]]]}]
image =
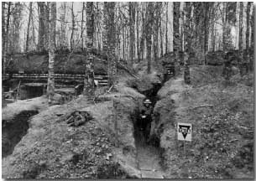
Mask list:
[{"label": "leaf-strewn earth bank right of the trench, surrounding the triangle sign", "polygon": [[[193,67],[191,85],[178,76],[158,92],[151,135],[165,149],[167,178],[253,178],[253,88],[227,84],[220,71]],[[193,125],[185,155],[183,142],[176,140],[177,122]]]}]

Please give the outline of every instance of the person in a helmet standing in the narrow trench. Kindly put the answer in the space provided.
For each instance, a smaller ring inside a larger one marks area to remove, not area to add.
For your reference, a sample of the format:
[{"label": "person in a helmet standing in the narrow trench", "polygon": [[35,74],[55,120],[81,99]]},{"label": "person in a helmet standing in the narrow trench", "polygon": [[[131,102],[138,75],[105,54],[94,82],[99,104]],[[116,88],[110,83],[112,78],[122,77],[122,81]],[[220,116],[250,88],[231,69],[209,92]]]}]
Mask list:
[{"label": "person in a helmet standing in the narrow trench", "polygon": [[144,106],[142,107],[140,111],[140,120],[138,123],[138,128],[141,132],[144,133],[144,138],[148,140],[149,138],[149,132],[151,127],[151,114],[153,111],[152,102],[149,99],[145,99]]}]

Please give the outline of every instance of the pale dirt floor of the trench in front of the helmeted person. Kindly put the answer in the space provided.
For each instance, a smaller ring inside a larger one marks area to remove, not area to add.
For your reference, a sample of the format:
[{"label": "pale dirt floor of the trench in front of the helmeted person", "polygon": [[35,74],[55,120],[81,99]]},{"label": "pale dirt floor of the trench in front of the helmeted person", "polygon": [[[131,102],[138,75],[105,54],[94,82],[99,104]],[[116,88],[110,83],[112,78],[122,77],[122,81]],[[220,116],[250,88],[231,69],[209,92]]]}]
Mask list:
[{"label": "pale dirt floor of the trench in front of the helmeted person", "polygon": [[135,137],[141,178],[164,178],[164,171],[159,164],[159,149],[147,144],[142,132],[137,131]]}]

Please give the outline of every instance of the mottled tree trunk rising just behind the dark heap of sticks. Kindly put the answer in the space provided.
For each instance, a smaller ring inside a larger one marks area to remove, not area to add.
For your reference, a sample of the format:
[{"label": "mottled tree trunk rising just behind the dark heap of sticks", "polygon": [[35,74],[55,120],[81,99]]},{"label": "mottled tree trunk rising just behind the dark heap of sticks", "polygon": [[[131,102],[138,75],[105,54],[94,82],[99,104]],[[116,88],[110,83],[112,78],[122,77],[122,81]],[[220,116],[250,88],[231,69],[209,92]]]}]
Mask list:
[{"label": "mottled tree trunk rising just behind the dark heap of sticks", "polygon": [[86,74],[84,80],[84,90],[83,93],[86,96],[94,96],[94,62],[93,56],[91,54],[91,49],[93,46],[93,34],[94,34],[94,13],[93,13],[93,3],[86,2]]}]

